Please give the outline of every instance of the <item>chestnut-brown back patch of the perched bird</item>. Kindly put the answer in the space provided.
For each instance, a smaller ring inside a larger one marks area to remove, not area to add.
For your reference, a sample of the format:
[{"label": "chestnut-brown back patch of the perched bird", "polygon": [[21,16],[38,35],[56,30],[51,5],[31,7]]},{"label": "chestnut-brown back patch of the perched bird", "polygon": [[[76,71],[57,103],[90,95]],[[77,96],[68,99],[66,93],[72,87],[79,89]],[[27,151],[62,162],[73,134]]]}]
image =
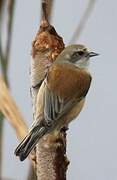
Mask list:
[{"label": "chestnut-brown back patch of the perched bird", "polygon": [[87,71],[72,64],[55,64],[50,68],[47,80],[51,91],[61,98],[80,98],[87,94],[91,76]]}]

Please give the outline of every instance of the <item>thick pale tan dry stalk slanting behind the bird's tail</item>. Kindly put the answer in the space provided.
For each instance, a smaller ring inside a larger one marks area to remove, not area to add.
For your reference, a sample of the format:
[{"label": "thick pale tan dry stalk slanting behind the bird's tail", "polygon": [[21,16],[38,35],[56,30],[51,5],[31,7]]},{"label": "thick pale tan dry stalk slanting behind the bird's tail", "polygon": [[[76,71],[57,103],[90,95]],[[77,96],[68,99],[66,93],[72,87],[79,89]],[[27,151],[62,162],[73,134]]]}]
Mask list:
[{"label": "thick pale tan dry stalk slanting behind the bird's tail", "polygon": [[[0,111],[15,130],[18,139],[22,140],[26,136],[28,128],[2,77],[0,77]],[[30,154],[29,159],[35,167],[34,152]]]}]

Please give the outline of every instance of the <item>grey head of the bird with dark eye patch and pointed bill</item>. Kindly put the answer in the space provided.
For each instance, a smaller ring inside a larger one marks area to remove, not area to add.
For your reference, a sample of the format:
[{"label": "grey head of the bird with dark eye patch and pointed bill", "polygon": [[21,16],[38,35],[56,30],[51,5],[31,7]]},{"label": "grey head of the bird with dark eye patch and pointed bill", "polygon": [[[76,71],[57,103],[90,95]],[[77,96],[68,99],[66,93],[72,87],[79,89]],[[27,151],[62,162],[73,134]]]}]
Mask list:
[{"label": "grey head of the bird with dark eye patch and pointed bill", "polygon": [[90,57],[97,55],[90,52],[84,45],[78,44],[67,46],[56,60],[72,63],[79,68],[87,68]]}]

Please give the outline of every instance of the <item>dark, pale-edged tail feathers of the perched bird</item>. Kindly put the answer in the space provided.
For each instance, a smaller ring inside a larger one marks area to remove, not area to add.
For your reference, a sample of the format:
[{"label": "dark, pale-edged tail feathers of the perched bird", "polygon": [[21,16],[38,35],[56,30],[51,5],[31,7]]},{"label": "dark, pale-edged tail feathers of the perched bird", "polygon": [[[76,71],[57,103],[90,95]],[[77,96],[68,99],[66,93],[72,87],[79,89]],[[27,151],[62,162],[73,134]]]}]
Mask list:
[{"label": "dark, pale-edged tail feathers of the perched bird", "polygon": [[44,136],[47,132],[46,127],[41,124],[33,127],[32,130],[27,134],[27,136],[22,140],[22,142],[15,149],[15,155],[19,156],[20,161],[24,161],[31,150],[38,143],[39,139]]}]

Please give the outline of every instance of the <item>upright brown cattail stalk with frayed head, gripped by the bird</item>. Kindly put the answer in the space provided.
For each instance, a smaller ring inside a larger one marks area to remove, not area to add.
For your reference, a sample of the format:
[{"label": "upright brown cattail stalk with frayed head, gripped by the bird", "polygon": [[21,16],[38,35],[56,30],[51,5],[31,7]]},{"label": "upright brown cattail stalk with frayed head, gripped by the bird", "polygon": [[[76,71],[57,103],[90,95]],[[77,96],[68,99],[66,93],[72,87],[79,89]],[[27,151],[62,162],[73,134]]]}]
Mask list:
[{"label": "upright brown cattail stalk with frayed head, gripped by the bird", "polygon": [[[31,91],[35,119],[37,93],[43,82],[47,65],[50,65],[64,49],[62,38],[48,22],[48,1],[42,0],[42,20],[39,32],[33,41],[31,62]],[[37,180],[65,180],[68,161],[66,158],[66,132],[61,130],[58,137],[47,135],[36,147]],[[49,141],[50,140],[50,141]],[[49,141],[48,147],[46,147]]]}]

